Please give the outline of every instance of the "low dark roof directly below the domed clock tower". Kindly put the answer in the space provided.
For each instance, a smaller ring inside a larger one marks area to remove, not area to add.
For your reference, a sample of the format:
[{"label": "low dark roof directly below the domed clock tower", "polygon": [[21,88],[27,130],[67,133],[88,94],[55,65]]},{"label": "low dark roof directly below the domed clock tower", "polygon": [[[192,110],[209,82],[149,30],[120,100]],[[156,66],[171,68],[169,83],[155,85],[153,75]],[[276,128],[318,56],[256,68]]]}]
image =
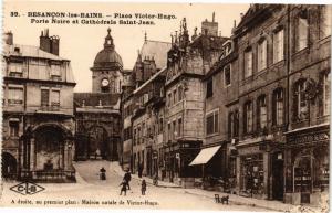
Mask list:
[{"label": "low dark roof directly below the domed clock tower", "polygon": [[[111,93],[74,93],[74,102],[82,106],[115,106],[120,100],[120,94]],[[100,103],[101,102],[101,103]]]}]

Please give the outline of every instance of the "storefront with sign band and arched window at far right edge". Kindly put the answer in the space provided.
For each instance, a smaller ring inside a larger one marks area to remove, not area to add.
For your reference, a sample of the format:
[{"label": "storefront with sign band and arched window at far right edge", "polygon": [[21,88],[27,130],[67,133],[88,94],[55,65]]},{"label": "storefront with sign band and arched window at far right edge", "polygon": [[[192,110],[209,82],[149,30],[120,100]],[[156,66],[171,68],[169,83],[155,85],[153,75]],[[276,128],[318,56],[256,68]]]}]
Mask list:
[{"label": "storefront with sign band and arched window at far right edge", "polygon": [[320,205],[329,193],[329,125],[286,134],[284,202]]}]

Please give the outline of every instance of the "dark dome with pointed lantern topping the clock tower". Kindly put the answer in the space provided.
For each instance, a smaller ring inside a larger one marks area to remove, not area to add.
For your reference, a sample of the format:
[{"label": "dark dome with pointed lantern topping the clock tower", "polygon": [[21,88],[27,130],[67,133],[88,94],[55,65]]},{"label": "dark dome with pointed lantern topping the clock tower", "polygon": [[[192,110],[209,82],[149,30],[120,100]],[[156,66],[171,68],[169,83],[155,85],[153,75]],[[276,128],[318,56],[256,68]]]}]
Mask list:
[{"label": "dark dome with pointed lantern topping the clock tower", "polygon": [[111,36],[111,29],[107,29],[107,35],[104,42],[104,49],[100,51],[93,63],[93,68],[110,68],[110,67],[123,67],[123,62],[121,56],[116,53],[113,43],[113,38]]}]

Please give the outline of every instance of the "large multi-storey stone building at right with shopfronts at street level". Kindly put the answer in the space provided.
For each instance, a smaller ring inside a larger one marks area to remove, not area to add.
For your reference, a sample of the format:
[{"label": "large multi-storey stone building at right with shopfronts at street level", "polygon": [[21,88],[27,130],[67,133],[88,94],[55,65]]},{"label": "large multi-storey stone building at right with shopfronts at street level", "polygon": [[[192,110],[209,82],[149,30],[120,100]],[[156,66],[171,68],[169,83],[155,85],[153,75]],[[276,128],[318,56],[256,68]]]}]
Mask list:
[{"label": "large multi-storey stone building at right with shopfronts at street level", "polygon": [[236,175],[224,181],[240,195],[319,204],[329,185],[331,8],[252,4],[231,42],[235,61],[221,56],[205,79],[208,89],[226,77],[228,61],[230,86],[238,87],[238,98],[205,100],[206,110],[226,111],[219,126],[230,152],[222,167]]}]

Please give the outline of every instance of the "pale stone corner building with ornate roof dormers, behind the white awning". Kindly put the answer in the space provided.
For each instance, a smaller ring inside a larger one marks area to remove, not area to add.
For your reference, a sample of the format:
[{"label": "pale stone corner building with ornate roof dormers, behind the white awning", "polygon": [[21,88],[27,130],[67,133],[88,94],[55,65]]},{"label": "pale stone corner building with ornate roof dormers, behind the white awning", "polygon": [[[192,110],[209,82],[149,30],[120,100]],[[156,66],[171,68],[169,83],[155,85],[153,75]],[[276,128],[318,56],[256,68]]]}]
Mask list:
[{"label": "pale stone corner building with ornate roof dormers, behind the white awning", "polygon": [[170,182],[193,187],[194,178],[204,173],[199,152],[205,139],[201,79],[219,58],[227,38],[217,34],[215,14],[212,21],[201,23],[199,35],[195,30],[191,41],[186,19],[180,28],[167,55],[164,155],[166,178]]}]

